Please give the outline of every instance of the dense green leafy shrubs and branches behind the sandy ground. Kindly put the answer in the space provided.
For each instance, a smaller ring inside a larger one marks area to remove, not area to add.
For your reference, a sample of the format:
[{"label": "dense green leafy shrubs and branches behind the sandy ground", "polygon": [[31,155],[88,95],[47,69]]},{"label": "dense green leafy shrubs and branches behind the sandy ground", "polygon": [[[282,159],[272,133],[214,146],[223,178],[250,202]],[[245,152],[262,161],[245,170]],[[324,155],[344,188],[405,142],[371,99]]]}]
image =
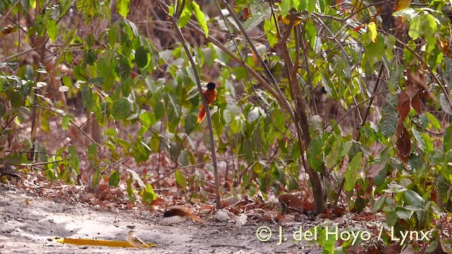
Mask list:
[{"label": "dense green leafy shrubs and branches behind the sandy ground", "polygon": [[[318,213],[340,202],[443,237],[450,2],[0,0],[0,12],[3,161],[76,184],[89,169],[90,188],[124,181],[131,201],[138,188],[152,202],[153,186],[124,164],[167,155],[178,186],[208,199],[212,180],[182,169],[213,148],[232,195],[309,190]],[[218,83],[215,147],[196,123],[197,73]],[[52,128],[88,138],[40,142]]]}]

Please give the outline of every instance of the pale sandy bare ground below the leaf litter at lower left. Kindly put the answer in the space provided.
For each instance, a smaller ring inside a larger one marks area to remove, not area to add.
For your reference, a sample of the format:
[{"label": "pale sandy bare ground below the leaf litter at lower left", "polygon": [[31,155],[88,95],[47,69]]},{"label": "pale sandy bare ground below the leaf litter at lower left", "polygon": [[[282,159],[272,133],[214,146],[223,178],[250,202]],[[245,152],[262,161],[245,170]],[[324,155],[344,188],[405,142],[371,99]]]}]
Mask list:
[{"label": "pale sandy bare ground below the leaf litter at lower left", "polygon": [[[0,253],[321,253],[318,245],[290,239],[278,245],[279,226],[260,222],[234,226],[232,223],[182,222],[167,226],[152,212],[98,210],[88,205],[67,204],[0,183]],[[310,224],[312,223],[312,224]],[[47,241],[50,236],[124,240],[130,227],[148,249],[73,246]],[[268,226],[270,241],[261,242],[256,229]],[[314,222],[282,225],[283,236],[293,229],[309,229]]]}]

